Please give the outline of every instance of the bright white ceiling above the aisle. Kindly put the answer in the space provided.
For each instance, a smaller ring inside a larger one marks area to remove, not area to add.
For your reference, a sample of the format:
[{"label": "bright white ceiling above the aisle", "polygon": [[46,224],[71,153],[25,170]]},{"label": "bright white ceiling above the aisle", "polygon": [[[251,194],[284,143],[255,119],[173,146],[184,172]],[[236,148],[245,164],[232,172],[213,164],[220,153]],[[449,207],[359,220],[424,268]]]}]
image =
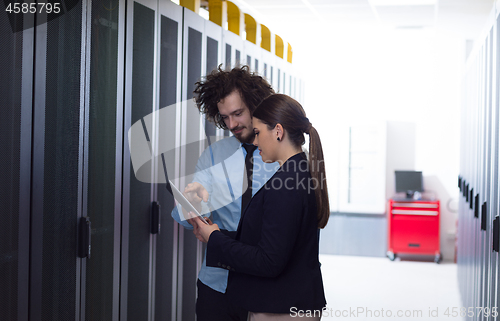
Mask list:
[{"label": "bright white ceiling above the aisle", "polygon": [[495,0],[233,0],[276,33],[307,28],[439,29],[474,39]]}]

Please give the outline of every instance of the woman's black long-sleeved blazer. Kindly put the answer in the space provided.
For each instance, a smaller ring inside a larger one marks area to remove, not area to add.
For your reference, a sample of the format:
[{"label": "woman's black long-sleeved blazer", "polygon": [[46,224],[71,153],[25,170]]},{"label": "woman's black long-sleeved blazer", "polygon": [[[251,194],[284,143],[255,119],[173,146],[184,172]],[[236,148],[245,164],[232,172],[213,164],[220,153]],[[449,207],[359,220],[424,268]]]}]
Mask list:
[{"label": "woman's black long-sleeved blazer", "polygon": [[230,271],[226,293],[234,304],[267,313],[326,305],[313,187],[305,154],[296,154],[254,195],[234,239],[210,235],[207,265]]}]

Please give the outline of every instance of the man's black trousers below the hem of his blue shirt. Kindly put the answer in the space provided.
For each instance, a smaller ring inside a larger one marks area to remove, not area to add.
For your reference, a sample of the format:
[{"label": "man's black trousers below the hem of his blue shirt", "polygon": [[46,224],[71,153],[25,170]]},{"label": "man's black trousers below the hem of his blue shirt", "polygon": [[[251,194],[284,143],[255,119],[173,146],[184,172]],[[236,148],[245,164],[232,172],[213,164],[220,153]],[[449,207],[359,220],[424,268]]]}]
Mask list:
[{"label": "man's black trousers below the hem of his blue shirt", "polygon": [[197,321],[247,321],[248,311],[231,304],[225,293],[215,291],[200,280],[197,286]]}]

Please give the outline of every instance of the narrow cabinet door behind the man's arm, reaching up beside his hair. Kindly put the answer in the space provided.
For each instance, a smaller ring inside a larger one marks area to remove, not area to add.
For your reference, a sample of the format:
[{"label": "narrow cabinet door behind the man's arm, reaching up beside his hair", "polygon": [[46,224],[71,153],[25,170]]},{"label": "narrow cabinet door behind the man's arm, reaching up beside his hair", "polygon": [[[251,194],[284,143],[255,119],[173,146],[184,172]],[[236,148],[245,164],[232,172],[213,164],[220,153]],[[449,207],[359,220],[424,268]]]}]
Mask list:
[{"label": "narrow cabinet door behind the man's arm, reaching up beside his hair", "polygon": [[[204,147],[205,136],[202,130],[202,117],[192,104],[195,83],[200,80],[206,68],[205,20],[189,9],[183,8],[183,12],[180,190],[193,180],[196,163]],[[191,231],[179,229],[177,320],[195,320],[196,280],[201,249],[201,244]]]}]

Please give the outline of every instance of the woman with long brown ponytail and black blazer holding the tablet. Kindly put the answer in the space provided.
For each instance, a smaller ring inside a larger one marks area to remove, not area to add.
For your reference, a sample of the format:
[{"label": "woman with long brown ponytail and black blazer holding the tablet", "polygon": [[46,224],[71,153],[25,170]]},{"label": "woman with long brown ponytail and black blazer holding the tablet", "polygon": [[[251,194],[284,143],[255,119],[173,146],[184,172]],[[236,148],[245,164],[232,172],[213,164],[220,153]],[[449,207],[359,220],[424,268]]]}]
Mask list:
[{"label": "woman with long brown ponytail and black blazer holding the tablet", "polygon": [[227,294],[249,320],[319,320],[326,305],[319,229],[330,216],[319,135],[302,106],[281,94],[264,99],[253,126],[262,160],[280,168],[253,196],[236,233],[199,219],[194,232],[207,243],[207,265],[229,270]]}]

